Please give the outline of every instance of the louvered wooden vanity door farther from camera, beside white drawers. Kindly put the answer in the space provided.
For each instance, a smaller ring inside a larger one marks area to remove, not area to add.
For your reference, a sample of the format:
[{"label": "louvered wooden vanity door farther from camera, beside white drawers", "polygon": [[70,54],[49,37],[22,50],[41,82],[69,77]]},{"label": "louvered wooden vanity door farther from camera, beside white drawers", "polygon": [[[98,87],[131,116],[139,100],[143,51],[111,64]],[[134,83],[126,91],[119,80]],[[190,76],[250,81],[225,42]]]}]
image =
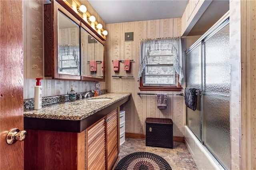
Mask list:
[{"label": "louvered wooden vanity door farther from camera, beside white drawers", "polygon": [[112,168],[118,158],[118,114],[117,109],[106,116],[107,166]]}]

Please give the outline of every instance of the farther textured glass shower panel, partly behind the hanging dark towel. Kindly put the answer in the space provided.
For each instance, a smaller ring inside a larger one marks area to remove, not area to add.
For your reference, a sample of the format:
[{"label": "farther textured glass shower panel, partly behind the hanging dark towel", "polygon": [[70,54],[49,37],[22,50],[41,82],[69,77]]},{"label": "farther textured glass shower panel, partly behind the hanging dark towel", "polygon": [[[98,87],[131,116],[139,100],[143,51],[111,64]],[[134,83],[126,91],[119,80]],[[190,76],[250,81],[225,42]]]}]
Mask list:
[{"label": "farther textured glass shower panel, partly behind the hanging dark towel", "polygon": [[[194,48],[186,55],[186,86],[201,89],[201,47]],[[200,96],[198,96],[197,109],[193,111],[187,108],[187,125],[201,140],[200,120]]]}]

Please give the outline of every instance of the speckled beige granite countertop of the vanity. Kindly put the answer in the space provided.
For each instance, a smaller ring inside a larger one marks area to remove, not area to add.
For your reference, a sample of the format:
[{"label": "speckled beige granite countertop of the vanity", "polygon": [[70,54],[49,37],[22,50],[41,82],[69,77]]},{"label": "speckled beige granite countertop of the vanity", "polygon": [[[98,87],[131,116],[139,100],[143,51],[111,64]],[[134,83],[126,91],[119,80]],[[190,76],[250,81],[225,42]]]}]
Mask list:
[{"label": "speckled beige granite countertop of the vanity", "polygon": [[91,97],[89,99],[111,98],[110,100],[87,101],[88,99],[82,99],[43,106],[39,110],[24,110],[24,117],[79,121],[130,95],[131,93],[106,93],[99,97]]}]

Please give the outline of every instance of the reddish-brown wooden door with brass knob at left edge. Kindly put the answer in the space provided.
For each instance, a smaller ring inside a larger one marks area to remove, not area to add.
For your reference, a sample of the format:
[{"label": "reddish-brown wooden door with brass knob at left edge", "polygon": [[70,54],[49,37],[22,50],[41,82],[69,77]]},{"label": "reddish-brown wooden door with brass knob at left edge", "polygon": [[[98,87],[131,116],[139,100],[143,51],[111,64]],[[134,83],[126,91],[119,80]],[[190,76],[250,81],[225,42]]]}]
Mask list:
[{"label": "reddish-brown wooden door with brass knob at left edge", "polygon": [[24,142],[6,143],[23,130],[22,0],[0,0],[0,170],[24,168]]}]

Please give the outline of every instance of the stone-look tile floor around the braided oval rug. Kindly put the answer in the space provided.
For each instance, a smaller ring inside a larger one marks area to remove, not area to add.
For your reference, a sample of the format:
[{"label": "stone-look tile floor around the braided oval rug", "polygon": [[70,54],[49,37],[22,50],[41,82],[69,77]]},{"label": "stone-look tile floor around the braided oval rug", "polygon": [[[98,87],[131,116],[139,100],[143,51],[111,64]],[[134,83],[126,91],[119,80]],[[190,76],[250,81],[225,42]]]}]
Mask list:
[{"label": "stone-look tile floor around the braided oval rug", "polygon": [[145,139],[126,138],[120,146],[120,159],[133,152],[152,152],[162,156],[172,167],[172,170],[198,170],[184,143],[174,142],[173,149],[146,146]]}]

